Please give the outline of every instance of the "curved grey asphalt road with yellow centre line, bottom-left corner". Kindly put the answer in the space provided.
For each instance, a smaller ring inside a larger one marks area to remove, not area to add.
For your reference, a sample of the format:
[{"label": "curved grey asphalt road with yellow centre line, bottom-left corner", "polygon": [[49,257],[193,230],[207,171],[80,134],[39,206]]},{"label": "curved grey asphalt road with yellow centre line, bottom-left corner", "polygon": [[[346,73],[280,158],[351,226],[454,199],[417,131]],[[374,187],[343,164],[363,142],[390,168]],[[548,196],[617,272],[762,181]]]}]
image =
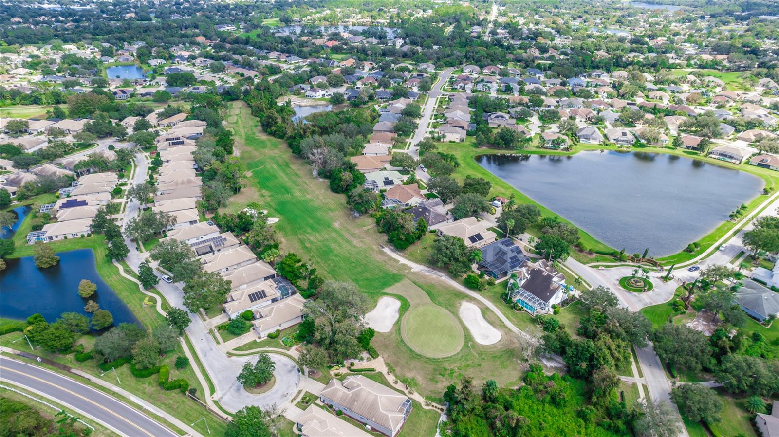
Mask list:
[{"label": "curved grey asphalt road with yellow centre line, bottom-left corner", "polygon": [[179,437],[157,421],[107,394],[44,368],[0,357],[0,379],[42,393],[128,437]]}]

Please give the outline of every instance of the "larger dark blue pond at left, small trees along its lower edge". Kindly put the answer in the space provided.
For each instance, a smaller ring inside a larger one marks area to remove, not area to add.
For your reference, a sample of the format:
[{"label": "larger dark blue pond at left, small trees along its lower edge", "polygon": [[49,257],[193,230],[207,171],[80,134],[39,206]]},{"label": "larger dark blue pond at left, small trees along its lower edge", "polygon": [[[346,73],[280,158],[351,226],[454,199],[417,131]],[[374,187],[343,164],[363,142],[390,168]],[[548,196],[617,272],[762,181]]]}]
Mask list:
[{"label": "larger dark blue pond at left, small trees along its lower edge", "polygon": [[[0,317],[23,320],[39,312],[48,322],[54,322],[62,312],[89,316],[84,305],[91,299],[114,315],[114,325],[139,323],[125,302],[97,273],[91,249],[57,255],[59,263],[48,269],[38,269],[32,256],[5,261],[7,266],[0,275]],[[89,299],[81,298],[78,293],[79,282],[83,279],[97,284],[97,291]]]}]

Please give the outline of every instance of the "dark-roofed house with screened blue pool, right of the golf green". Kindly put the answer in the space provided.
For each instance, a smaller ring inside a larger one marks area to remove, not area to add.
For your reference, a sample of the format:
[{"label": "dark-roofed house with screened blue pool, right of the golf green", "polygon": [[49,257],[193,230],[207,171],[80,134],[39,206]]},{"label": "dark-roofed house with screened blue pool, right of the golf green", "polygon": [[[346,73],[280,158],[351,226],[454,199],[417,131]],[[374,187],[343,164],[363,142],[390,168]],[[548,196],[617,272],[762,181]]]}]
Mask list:
[{"label": "dark-roofed house with screened blue pool, right of the golf green", "polygon": [[509,278],[509,301],[532,315],[552,312],[552,305],[559,305],[572,291],[566,277],[545,259],[538,263],[525,259],[514,274],[516,277]]}]

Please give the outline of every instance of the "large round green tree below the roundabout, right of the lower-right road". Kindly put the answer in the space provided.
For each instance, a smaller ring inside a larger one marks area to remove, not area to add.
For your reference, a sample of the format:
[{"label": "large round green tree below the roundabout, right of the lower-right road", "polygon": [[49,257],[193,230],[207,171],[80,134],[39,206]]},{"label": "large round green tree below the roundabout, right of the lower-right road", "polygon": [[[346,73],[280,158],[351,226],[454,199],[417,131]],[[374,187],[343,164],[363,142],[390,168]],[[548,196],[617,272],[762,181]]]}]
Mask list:
[{"label": "large round green tree below the roundabout, right of the lower-right road", "polygon": [[663,325],[654,334],[654,351],[674,368],[697,371],[711,356],[708,338],[685,325]]}]

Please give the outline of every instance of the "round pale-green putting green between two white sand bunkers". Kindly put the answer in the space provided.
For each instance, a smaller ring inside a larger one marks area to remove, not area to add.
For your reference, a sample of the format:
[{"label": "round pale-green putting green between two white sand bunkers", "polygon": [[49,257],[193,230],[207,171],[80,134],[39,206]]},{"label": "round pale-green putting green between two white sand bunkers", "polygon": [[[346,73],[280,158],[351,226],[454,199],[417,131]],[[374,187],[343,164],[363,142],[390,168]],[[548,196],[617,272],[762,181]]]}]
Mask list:
[{"label": "round pale-green putting green between two white sand bunkers", "polygon": [[414,352],[444,358],[463,347],[465,334],[456,317],[437,305],[411,308],[400,322],[400,335]]}]

